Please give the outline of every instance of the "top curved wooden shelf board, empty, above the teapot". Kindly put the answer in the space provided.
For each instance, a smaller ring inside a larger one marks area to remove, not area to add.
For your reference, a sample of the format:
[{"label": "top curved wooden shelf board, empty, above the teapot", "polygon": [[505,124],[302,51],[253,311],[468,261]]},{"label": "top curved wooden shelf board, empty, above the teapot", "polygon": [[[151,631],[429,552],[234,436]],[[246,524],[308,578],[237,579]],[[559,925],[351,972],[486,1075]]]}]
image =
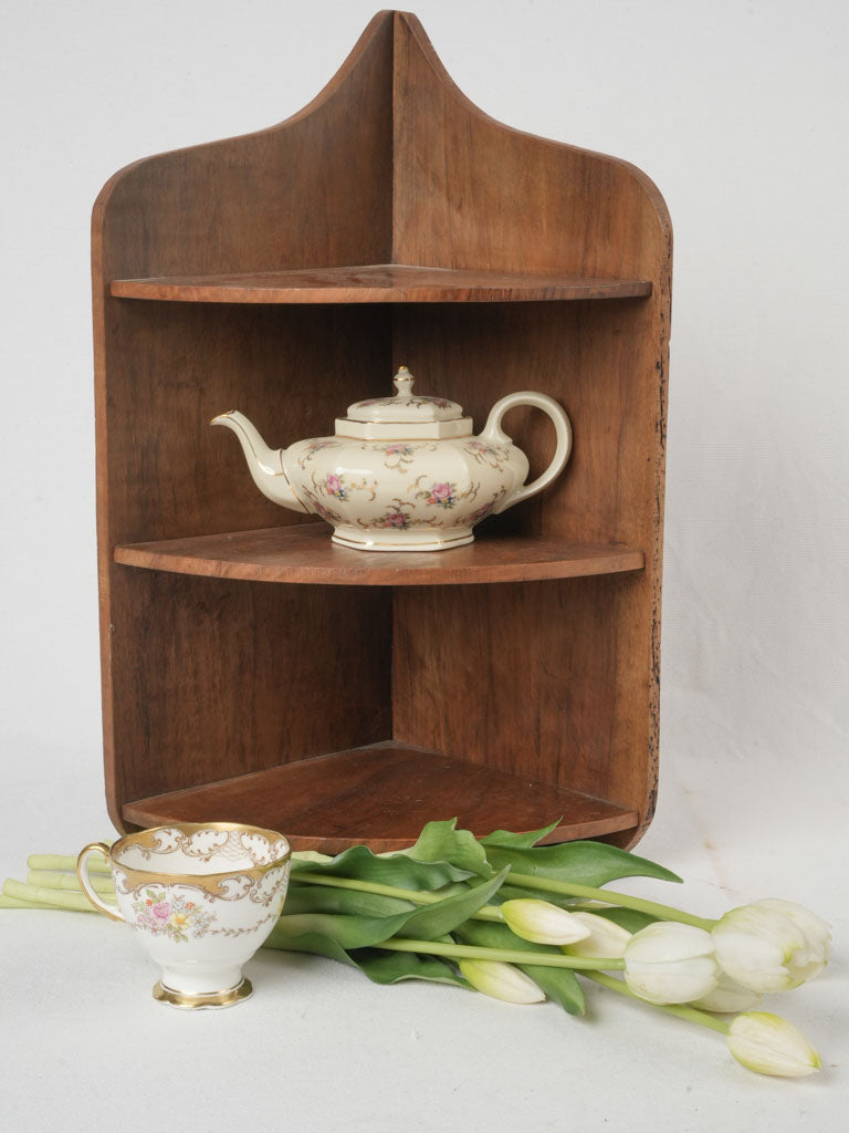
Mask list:
[{"label": "top curved wooden shelf board, empty, above the teapot", "polygon": [[522,275],[366,264],[247,275],[162,275],[113,280],[119,299],[177,303],[540,303],[629,299],[651,295],[650,280]]}]

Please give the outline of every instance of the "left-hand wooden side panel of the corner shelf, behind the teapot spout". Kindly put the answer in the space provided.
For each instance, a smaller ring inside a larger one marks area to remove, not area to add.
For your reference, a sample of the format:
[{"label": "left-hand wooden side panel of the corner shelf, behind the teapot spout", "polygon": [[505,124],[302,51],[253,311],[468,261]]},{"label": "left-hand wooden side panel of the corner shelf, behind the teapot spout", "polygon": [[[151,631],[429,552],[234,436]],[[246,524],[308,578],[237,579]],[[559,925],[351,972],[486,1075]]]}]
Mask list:
[{"label": "left-hand wooden side panel of the corner shelf, behind the teapot spout", "polygon": [[388,595],[298,602],[157,579],[113,553],[303,519],[256,492],[208,420],[239,407],[281,440],[327,432],[336,406],[388,382],[389,309],[139,304],[110,284],[389,262],[392,36],[393,17],[375,17],[283,125],[136,162],[94,206],[104,766],[119,829],[128,798],[388,734]]}]

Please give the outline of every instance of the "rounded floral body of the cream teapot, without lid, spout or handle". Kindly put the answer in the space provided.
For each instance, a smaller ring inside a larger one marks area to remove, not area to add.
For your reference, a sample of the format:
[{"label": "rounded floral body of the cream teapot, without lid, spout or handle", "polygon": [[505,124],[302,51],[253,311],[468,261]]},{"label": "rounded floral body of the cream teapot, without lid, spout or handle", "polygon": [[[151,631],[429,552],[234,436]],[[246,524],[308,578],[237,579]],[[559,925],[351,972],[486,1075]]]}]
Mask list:
[{"label": "rounded floral body of the cream teapot, without lid, spout or handle", "polygon": [[473,539],[528,476],[509,440],[300,441],[283,467],[305,511],[334,527],[333,540],[363,551],[443,551]]}]

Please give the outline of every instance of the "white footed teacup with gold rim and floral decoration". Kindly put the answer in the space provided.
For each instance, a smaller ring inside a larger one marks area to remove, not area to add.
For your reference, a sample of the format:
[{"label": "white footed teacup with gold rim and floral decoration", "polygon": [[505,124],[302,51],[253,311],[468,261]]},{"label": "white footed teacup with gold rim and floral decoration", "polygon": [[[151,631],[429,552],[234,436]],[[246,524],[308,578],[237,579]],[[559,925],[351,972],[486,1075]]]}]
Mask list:
[{"label": "white footed teacup with gold rim and floral decoration", "polygon": [[[88,877],[92,853],[109,862],[118,908]],[[153,995],[174,1007],[230,1007],[252,988],[242,976],[280,915],[291,849],[282,834],[237,823],[171,823],[92,842],[77,860],[88,900],[135,929],[162,970]]]}]

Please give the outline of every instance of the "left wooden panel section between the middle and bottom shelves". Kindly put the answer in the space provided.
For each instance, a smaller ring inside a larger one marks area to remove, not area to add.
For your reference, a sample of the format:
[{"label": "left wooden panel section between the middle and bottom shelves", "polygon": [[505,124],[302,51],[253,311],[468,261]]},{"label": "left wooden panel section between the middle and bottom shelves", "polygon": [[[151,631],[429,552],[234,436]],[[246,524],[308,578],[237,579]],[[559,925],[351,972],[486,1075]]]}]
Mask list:
[{"label": "left wooden panel section between the middle and bottom shelves", "polygon": [[117,566],[112,596],[108,785],[121,803],[392,730],[386,590]]}]

